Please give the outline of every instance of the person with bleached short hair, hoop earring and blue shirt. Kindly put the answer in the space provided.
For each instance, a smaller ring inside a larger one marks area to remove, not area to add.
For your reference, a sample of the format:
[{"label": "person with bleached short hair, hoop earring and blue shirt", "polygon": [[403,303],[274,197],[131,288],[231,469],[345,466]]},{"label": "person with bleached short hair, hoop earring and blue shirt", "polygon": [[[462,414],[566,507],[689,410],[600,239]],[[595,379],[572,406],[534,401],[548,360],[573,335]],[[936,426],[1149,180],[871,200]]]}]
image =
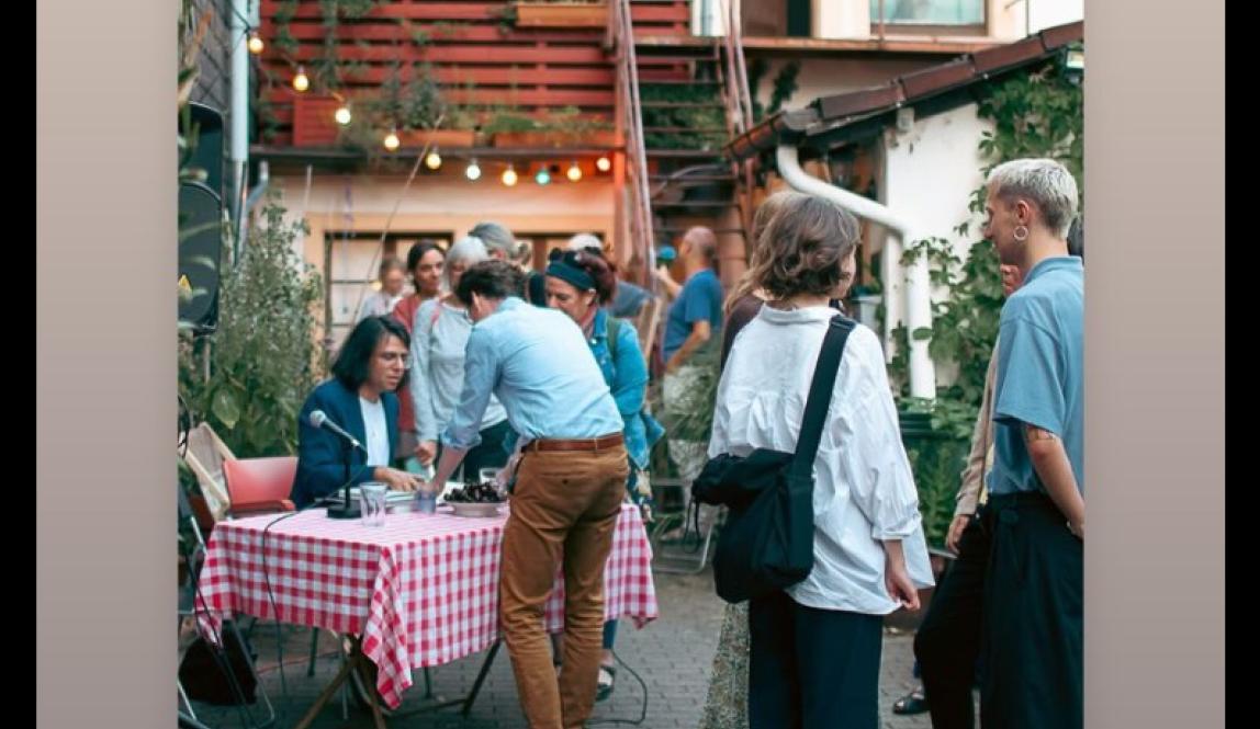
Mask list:
[{"label": "person with bleached short hair, hoop earring and blue shirt", "polygon": [[998,165],[987,188],[984,235],[1024,280],[998,329],[980,724],[1080,729],[1085,268],[1067,243],[1079,191],[1046,159]]}]

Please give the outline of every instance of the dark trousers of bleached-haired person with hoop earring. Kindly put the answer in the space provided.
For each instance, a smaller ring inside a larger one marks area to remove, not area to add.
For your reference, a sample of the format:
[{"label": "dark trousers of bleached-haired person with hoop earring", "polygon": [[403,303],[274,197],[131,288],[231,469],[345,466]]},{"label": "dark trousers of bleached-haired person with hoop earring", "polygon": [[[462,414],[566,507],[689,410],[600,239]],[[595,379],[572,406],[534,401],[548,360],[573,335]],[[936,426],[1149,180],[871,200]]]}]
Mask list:
[{"label": "dark trousers of bleached-haired person with hoop earring", "polygon": [[985,729],[1084,726],[1084,544],[1048,496],[990,496],[984,584]]}]

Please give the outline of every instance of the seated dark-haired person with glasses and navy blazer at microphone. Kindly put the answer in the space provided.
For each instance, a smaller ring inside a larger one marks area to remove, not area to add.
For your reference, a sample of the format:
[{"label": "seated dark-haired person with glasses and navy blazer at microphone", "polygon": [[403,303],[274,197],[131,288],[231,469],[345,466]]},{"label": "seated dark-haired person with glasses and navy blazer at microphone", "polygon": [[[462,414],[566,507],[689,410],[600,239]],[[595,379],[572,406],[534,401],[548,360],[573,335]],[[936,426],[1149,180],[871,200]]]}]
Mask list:
[{"label": "seated dark-haired person with glasses and navy blazer at microphone", "polygon": [[[333,363],[333,378],[306,398],[297,414],[297,476],[291,499],[299,509],[346,483],[346,444],[311,424],[323,410],[363,449],[350,449],[350,486],[382,481],[394,491],[415,491],[416,476],[389,467],[398,441],[398,395],[406,385],[411,337],[389,316],[369,316],[354,326]],[[367,451],[367,452],[364,452]]]}]

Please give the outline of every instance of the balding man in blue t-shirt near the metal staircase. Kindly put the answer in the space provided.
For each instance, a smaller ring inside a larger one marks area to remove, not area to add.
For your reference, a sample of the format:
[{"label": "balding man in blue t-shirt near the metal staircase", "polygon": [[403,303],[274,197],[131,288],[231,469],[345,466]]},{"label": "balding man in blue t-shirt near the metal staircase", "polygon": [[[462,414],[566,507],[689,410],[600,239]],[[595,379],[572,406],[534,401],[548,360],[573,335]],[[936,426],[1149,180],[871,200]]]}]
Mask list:
[{"label": "balding man in blue t-shirt near the metal staircase", "polygon": [[[694,412],[698,407],[692,400],[703,370],[697,366],[696,355],[721,341],[722,331],[722,283],[713,271],[717,235],[708,228],[692,228],[683,235],[678,254],[683,261],[682,285],[670,278],[668,269],[656,271],[662,286],[674,298],[662,340],[664,405],[670,414]],[[669,441],[670,458],[683,478],[690,481],[699,476],[707,447],[699,441]]]}]

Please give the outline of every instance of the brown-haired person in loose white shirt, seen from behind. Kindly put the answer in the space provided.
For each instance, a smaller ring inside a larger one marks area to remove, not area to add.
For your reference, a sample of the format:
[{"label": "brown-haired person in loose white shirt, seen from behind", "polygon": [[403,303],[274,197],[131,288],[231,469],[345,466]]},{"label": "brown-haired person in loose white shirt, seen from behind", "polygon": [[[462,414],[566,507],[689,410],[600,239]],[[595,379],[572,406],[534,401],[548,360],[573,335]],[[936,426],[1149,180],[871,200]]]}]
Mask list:
[{"label": "brown-haired person in loose white shirt, seen from behind", "polygon": [[[791,452],[828,306],[850,285],[857,220],[793,195],[752,272],[770,301],[736,336],[718,385],[709,457]],[[858,325],[840,360],[814,461],[814,568],[748,604],[751,729],[876,729],[883,616],[932,584],[919,497],[879,339]]]}]

